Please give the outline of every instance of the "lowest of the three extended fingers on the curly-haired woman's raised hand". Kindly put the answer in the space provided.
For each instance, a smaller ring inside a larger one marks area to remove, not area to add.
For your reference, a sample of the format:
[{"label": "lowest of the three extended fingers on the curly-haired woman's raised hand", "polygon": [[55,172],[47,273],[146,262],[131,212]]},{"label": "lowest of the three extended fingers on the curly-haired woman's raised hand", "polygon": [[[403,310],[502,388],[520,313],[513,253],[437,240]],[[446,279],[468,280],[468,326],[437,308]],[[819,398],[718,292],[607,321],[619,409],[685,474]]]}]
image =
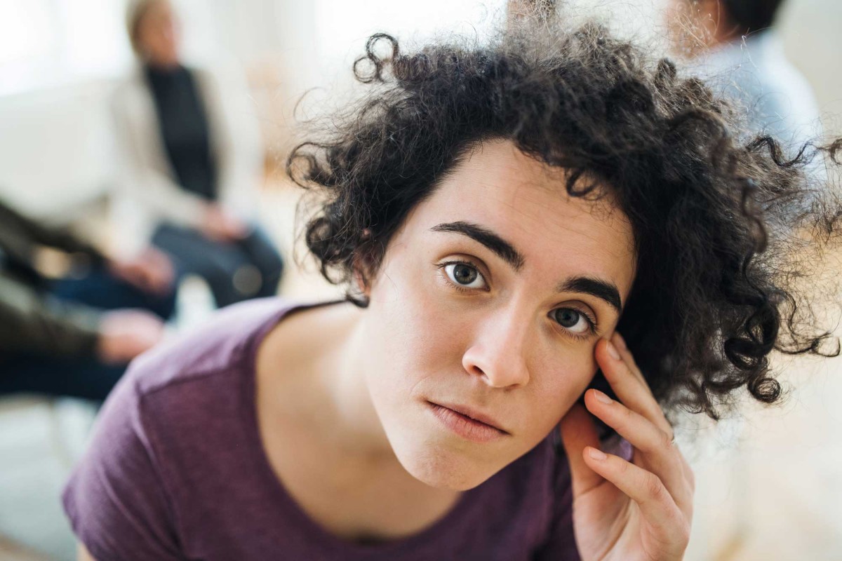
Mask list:
[{"label": "lowest of the three extended fingers on the curly-haired woman's raised hand", "polygon": [[690,541],[689,516],[679,510],[657,475],[598,448],[586,447],[583,458],[596,474],[610,481],[634,500],[662,544],[675,544],[683,553]]}]

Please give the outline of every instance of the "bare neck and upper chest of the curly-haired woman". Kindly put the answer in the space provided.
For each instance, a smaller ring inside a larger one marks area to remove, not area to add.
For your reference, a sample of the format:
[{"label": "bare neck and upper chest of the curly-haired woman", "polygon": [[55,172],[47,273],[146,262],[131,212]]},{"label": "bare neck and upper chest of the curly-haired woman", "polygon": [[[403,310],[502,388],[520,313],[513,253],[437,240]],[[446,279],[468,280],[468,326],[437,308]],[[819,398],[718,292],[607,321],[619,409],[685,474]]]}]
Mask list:
[{"label": "bare neck and upper chest of the curly-haired woman", "polygon": [[434,489],[392,451],[365,384],[365,311],[301,310],[258,349],[264,451],[301,508],[347,539],[407,537],[450,511],[460,492]]}]

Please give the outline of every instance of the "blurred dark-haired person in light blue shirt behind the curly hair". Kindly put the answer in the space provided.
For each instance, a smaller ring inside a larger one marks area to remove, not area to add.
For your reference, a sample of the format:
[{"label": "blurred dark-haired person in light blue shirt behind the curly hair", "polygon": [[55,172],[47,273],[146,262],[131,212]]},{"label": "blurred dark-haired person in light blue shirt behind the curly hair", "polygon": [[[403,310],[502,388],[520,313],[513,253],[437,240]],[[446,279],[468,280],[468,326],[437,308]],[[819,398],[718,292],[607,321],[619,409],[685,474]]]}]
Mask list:
[{"label": "blurred dark-haired person in light blue shirt behind the curly hair", "polygon": [[689,70],[744,109],[747,130],[787,149],[822,134],[813,89],[786,58],[775,22],[786,0],[670,0],[668,25]]}]

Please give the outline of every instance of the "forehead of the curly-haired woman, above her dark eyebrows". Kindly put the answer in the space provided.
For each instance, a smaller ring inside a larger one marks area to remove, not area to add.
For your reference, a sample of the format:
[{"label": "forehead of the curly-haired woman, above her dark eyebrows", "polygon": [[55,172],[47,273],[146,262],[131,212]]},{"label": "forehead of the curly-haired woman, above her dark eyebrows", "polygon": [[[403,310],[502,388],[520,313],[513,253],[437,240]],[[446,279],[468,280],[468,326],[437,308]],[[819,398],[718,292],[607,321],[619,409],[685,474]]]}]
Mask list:
[{"label": "forehead of the curly-haired woman, above her dark eyebrows", "polygon": [[[565,259],[568,266],[589,273],[633,276],[634,242],[626,215],[610,196],[596,201],[570,197],[566,177],[509,141],[487,142],[454,168],[408,220],[422,230],[456,222],[480,226],[547,273]],[[449,229],[434,231],[442,230]]]}]

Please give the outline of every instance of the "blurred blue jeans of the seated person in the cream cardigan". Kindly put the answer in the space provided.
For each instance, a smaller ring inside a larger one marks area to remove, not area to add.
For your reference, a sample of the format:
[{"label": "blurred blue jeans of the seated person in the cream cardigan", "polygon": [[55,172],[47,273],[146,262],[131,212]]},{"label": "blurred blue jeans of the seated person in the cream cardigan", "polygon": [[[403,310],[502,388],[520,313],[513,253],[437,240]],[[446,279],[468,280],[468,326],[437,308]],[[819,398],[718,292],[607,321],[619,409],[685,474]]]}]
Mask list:
[{"label": "blurred blue jeans of the seated person in the cream cardigan", "polygon": [[179,277],[192,273],[205,279],[218,307],[246,299],[274,296],[284,262],[259,226],[241,240],[213,241],[198,230],[164,224],[152,245],[173,258]]}]

